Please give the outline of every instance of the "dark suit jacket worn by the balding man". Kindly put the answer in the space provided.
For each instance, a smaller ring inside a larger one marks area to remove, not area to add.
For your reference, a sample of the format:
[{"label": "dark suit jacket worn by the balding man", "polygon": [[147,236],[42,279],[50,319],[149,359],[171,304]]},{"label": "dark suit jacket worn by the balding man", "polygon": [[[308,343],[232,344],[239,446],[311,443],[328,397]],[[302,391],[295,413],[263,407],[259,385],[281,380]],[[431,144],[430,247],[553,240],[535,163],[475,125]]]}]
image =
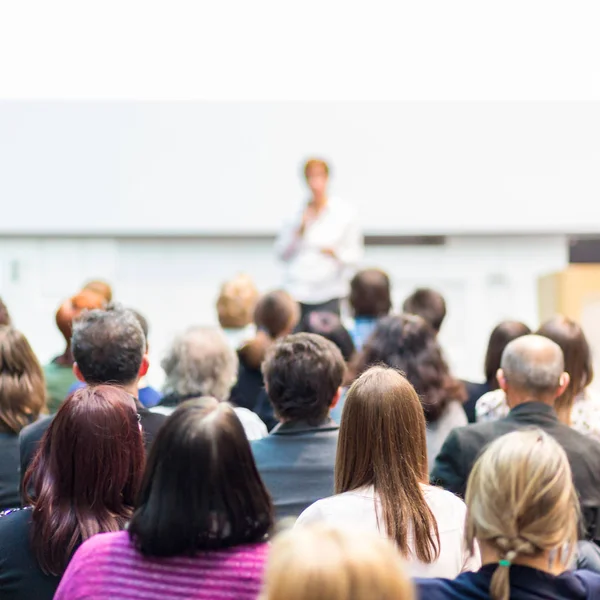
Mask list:
[{"label": "dark suit jacket worn by the balding man", "polygon": [[587,535],[600,540],[600,443],[560,423],[554,409],[547,404],[527,402],[513,408],[504,419],[452,431],[435,459],[432,483],[464,496],[473,464],[485,446],[506,433],[527,427],[543,429],[564,448]]}]

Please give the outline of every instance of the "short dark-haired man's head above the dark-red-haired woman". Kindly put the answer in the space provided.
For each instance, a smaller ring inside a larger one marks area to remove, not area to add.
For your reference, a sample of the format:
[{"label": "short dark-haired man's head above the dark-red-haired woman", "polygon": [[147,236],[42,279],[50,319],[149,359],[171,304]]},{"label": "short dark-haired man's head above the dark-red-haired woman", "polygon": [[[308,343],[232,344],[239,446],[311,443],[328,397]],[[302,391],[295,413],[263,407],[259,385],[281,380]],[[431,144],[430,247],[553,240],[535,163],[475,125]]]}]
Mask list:
[{"label": "short dark-haired man's head above the dark-red-haired woman", "polygon": [[86,383],[129,385],[139,378],[146,339],[130,310],[91,310],[73,324],[72,350]]}]

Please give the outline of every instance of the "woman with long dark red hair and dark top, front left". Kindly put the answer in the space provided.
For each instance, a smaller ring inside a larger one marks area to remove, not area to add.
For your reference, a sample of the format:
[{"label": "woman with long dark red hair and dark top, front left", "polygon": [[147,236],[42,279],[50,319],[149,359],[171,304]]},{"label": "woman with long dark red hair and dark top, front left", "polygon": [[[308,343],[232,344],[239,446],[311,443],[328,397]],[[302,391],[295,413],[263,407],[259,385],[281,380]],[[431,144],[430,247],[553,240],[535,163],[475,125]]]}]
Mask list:
[{"label": "woman with long dark red hair and dark top, front left", "polygon": [[0,518],[0,597],[50,600],[86,539],[133,513],[144,447],[133,398],[114,386],[77,390],[59,408],[25,475],[31,506]]}]

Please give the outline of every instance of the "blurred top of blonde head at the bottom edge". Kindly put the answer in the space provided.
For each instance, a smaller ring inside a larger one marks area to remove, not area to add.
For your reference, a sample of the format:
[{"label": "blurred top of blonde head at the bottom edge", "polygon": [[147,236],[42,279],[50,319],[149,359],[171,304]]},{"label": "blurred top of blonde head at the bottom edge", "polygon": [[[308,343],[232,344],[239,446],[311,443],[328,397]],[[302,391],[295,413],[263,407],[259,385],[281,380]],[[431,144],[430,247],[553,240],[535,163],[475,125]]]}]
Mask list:
[{"label": "blurred top of blonde head at the bottom edge", "polygon": [[398,552],[374,534],[325,524],[275,538],[261,600],[413,600]]}]

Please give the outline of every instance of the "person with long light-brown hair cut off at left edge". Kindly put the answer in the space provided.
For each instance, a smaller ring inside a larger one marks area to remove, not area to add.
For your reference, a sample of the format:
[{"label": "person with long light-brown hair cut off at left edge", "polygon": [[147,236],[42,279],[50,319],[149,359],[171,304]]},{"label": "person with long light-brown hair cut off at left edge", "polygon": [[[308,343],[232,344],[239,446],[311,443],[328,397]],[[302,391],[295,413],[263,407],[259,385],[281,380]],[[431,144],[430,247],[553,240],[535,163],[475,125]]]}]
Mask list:
[{"label": "person with long light-brown hair cut off at left edge", "polygon": [[0,325],[0,511],[21,506],[19,432],[45,408],[44,373],[29,342]]}]

